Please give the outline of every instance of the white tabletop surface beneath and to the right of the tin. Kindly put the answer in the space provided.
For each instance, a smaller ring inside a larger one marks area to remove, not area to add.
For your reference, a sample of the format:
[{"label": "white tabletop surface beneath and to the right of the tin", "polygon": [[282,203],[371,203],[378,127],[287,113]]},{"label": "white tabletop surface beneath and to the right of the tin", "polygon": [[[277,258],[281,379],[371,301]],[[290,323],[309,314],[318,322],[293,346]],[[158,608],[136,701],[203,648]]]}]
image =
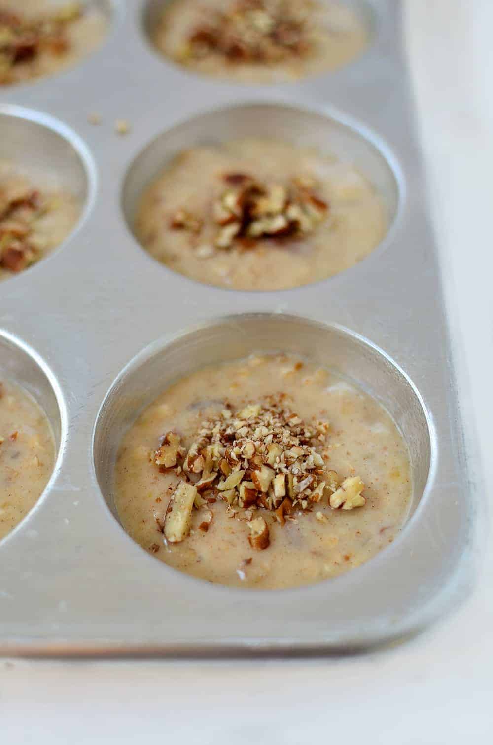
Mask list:
[{"label": "white tabletop surface beneath and to the right of the tin", "polygon": [[[493,3],[408,0],[407,7],[449,313],[465,352],[464,415],[477,427],[489,484]],[[308,745],[320,737],[349,745],[483,745],[493,732],[492,628],[489,549],[468,603],[394,650],[299,662],[0,661],[0,742],[127,744],[179,736],[183,745]]]}]

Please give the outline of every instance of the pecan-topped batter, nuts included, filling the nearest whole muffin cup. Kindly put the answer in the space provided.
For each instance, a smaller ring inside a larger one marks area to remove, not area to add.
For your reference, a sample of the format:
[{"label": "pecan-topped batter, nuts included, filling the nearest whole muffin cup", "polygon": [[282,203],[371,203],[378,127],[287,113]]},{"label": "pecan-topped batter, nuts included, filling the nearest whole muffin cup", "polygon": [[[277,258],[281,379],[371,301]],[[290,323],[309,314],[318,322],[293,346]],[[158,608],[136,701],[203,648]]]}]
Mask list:
[{"label": "pecan-topped batter, nuts included, filling the nearest whole muffin cup", "polygon": [[136,542],[241,587],[359,566],[392,542],[410,500],[407,447],[384,408],[287,355],[206,367],[169,387],[124,436],[115,470],[118,515]]}]

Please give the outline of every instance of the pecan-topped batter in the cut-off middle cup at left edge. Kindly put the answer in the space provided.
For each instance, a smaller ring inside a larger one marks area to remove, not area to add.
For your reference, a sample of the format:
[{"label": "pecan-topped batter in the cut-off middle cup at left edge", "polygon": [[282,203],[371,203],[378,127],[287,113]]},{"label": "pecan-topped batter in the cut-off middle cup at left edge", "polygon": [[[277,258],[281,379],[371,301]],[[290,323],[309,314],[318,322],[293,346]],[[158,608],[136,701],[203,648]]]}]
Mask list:
[{"label": "pecan-topped batter in the cut-off middle cup at left edge", "polygon": [[74,228],[80,205],[67,191],[32,183],[0,161],[0,280],[42,259]]}]

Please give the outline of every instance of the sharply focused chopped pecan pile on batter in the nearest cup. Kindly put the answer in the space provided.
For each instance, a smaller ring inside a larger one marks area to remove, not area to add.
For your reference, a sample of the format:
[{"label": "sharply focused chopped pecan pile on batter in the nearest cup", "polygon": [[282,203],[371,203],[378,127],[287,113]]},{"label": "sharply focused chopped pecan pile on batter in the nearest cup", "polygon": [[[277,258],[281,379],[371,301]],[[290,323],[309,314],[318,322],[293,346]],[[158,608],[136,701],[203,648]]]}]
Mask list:
[{"label": "sharply focused chopped pecan pile on batter in the nearest cup", "polygon": [[[168,432],[150,460],[161,469],[166,466],[178,475],[187,474],[171,500],[171,516],[165,519],[165,535],[182,537],[168,540],[182,540],[188,534],[191,510],[213,504],[217,498],[229,508],[245,510],[244,518],[250,523],[255,522],[255,510],[268,510],[281,525],[286,516],[293,519],[293,510],[309,511],[325,494],[333,509],[363,506],[366,500],[360,478],[346,478],[340,485],[337,472],[326,466],[320,451],[328,429],[328,422],[304,422],[287,408],[283,396],[266,396],[236,411],[225,405],[216,418],[201,423],[188,451],[179,435]],[[181,527],[177,529],[179,519]],[[169,521],[172,529],[166,528]],[[206,530],[203,523],[199,527]],[[254,543],[258,548],[256,538]]]}]

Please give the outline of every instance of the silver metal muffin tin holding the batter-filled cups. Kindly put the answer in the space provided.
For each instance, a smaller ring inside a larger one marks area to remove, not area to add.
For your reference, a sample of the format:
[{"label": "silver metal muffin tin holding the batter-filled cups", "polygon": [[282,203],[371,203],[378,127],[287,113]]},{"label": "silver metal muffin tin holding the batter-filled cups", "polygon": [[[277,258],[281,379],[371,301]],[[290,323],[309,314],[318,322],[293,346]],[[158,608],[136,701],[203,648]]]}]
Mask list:
[{"label": "silver metal muffin tin holding the batter-filled cups", "polygon": [[[404,638],[471,586],[475,505],[400,3],[365,4],[372,41],[349,66],[258,87],[160,57],[147,7],[114,2],[95,54],[0,89],[0,157],[48,169],[83,202],[65,244],[0,284],[1,373],[45,407],[58,446],[42,498],[0,543],[0,651],[300,653]],[[115,133],[119,118],[127,136]],[[393,215],[381,247],[338,276],[277,292],[200,285],[147,255],[127,225],[144,183],[177,149],[244,133],[352,159]],[[177,375],[254,349],[333,364],[381,399],[410,445],[410,521],[378,557],[335,580],[214,586],[150,557],[115,519],[112,461],[139,408]]]}]

